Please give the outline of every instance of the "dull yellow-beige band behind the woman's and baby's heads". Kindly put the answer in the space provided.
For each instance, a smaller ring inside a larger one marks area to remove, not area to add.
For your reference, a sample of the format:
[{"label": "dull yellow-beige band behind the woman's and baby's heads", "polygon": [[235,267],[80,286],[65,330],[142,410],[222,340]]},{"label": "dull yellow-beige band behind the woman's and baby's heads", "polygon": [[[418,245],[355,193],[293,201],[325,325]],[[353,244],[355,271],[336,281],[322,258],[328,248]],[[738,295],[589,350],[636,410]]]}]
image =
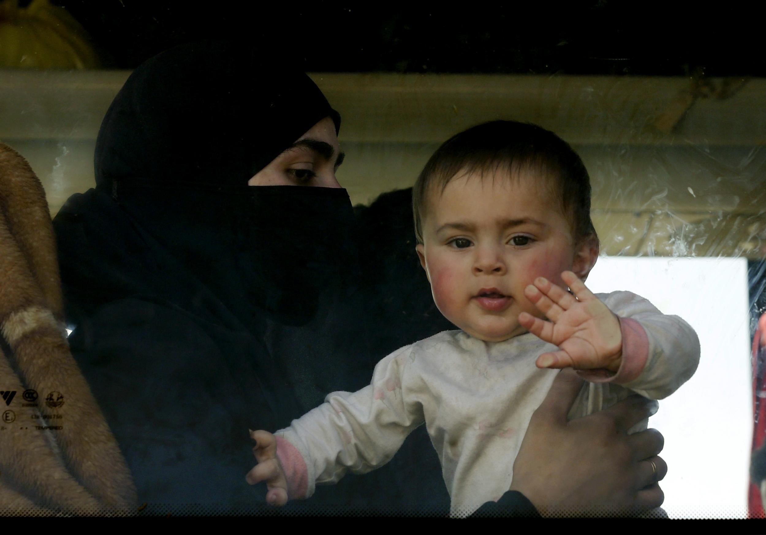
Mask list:
[{"label": "dull yellow-beige band behind the woman's and baby's heads", "polygon": [[[98,128],[128,74],[0,73],[0,139],[28,157],[51,212],[93,184]],[[583,157],[605,254],[766,255],[766,80],[312,76],[344,118],[339,180],[355,203],[411,186],[453,133],[523,120]]]}]

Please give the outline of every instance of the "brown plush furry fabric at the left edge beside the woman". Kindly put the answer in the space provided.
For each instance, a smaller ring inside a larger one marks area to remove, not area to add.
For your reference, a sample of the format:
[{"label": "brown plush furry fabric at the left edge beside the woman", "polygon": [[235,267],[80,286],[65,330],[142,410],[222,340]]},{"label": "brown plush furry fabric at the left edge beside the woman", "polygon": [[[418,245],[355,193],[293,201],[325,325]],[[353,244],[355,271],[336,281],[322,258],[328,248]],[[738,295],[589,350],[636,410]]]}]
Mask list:
[{"label": "brown plush furry fabric at the left edge beside the woman", "polygon": [[0,143],[0,515],[136,510],[126,462],[69,352],[63,316],[45,192],[25,159]]}]

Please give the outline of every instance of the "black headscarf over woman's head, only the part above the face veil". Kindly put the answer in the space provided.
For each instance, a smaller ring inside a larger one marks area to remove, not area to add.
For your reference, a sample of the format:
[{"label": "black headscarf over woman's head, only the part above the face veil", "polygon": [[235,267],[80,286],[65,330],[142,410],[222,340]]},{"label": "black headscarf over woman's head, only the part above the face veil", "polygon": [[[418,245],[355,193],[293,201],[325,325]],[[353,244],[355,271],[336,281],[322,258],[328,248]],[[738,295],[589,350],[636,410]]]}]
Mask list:
[{"label": "black headscarf over woman's head, only the part above the face veil", "polygon": [[340,116],[286,58],[229,41],[186,44],[133,71],[101,125],[96,183],[247,184],[325,117]]}]

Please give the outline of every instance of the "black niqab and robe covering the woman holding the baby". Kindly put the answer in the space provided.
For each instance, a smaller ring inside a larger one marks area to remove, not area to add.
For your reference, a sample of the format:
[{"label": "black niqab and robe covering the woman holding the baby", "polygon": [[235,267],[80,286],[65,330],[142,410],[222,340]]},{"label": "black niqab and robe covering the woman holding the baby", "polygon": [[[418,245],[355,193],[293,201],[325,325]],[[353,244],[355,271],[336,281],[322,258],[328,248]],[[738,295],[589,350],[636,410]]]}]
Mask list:
[{"label": "black niqab and robe covering the woman holding the baby", "polygon": [[[71,350],[140,501],[263,504],[247,428],[369,381],[347,192],[247,185],[326,117],[337,132],[309,77],[252,48],[166,51],[106,113],[96,188],[54,219]],[[367,503],[345,479],[311,504]]]}]

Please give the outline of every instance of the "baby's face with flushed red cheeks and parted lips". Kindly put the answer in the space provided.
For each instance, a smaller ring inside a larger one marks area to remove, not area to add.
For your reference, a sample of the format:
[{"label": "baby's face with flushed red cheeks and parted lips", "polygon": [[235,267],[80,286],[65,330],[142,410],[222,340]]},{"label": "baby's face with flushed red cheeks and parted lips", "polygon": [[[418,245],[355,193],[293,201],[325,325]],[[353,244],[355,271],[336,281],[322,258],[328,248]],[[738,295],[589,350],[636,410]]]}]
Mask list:
[{"label": "baby's face with flushed red cheeks and parted lips", "polygon": [[534,183],[525,174],[466,176],[427,199],[417,252],[434,301],[444,317],[481,340],[525,333],[521,312],[545,317],[524,296],[535,277],[566,288],[561,272],[577,273],[571,226],[558,202]]}]

